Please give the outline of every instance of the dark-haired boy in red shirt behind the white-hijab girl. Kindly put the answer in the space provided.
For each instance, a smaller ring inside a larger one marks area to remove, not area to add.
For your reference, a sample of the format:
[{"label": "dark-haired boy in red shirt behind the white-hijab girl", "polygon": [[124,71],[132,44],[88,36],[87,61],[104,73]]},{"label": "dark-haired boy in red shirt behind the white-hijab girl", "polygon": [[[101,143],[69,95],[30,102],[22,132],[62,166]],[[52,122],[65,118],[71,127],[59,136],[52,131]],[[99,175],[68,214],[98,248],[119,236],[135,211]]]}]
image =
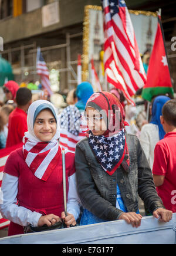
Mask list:
[{"label": "dark-haired boy in red shirt behind the white-hijab girl", "polygon": [[17,107],[9,116],[6,147],[22,143],[24,133],[28,131],[27,111],[32,103],[32,93],[28,88],[19,88],[16,93]]}]

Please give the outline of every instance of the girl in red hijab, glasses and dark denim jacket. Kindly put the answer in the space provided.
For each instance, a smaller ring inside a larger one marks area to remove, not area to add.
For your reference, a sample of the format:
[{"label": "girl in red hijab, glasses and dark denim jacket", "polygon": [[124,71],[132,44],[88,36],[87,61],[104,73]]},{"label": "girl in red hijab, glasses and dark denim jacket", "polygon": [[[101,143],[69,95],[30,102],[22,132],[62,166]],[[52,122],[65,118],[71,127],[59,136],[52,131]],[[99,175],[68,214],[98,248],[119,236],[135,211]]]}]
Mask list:
[{"label": "girl in red hijab, glasses and dark denim jacket", "polygon": [[77,192],[84,207],[80,225],[124,219],[139,227],[138,195],[151,213],[170,221],[172,212],[158,197],[153,176],[137,137],[127,134],[120,101],[94,93],[86,104],[89,132],[76,145]]}]

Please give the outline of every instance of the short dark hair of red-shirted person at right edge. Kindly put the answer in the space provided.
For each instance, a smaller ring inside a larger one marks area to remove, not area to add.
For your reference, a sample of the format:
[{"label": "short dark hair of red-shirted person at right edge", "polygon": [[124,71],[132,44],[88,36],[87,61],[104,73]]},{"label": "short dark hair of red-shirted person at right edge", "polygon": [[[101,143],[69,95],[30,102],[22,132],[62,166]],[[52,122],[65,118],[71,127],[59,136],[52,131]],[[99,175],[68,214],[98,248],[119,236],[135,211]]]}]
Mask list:
[{"label": "short dark hair of red-shirted person at right edge", "polygon": [[168,124],[176,127],[176,99],[168,100],[164,104],[162,114]]}]

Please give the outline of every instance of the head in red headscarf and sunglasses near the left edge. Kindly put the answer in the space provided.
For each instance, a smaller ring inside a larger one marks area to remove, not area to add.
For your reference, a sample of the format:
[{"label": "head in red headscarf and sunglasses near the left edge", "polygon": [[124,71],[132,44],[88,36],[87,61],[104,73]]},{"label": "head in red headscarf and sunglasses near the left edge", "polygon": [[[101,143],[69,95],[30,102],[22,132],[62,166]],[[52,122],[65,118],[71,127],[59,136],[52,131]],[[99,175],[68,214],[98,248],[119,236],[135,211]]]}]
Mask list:
[{"label": "head in red headscarf and sunglasses near the left edge", "polygon": [[4,84],[3,90],[7,100],[15,100],[16,91],[18,91],[19,86],[15,81],[8,81]]}]

